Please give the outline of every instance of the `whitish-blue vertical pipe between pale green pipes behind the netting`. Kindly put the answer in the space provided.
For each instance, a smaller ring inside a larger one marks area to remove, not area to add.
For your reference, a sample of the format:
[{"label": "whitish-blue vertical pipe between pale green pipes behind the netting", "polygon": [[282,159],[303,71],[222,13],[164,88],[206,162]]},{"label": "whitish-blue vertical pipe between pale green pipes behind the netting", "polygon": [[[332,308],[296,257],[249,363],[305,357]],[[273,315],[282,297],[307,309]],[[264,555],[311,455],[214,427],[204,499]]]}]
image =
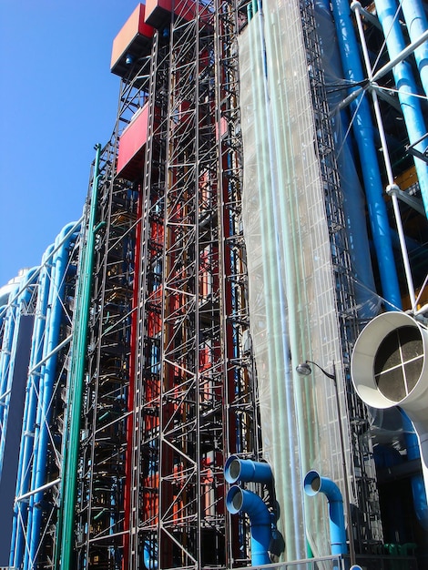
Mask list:
[{"label": "whitish-blue vertical pipe between pale green pipes behind the netting", "polygon": [[[260,36],[260,57],[263,64],[269,65],[270,57],[265,57],[265,48],[269,50],[269,45],[265,45],[270,36],[269,25],[264,25],[264,15],[260,12],[258,17]],[[284,274],[285,265],[288,263],[287,256],[284,256],[284,249],[281,244],[280,230],[280,209],[278,208],[280,199],[283,197],[284,187],[280,183],[280,165],[283,160],[282,153],[277,155],[280,137],[276,136],[275,117],[273,108],[278,99],[278,84],[271,81],[270,74],[264,69],[259,73],[262,82],[262,90],[266,106],[266,127],[265,133],[268,145],[268,168],[270,170],[270,183],[265,185],[267,210],[270,213],[270,297],[273,304],[271,323],[273,331],[273,341],[276,347],[277,364],[274,370],[270,371],[271,392],[276,403],[280,403],[279,409],[279,431],[275,433],[275,447],[280,455],[280,467],[277,473],[281,473],[282,485],[280,488],[282,513],[284,516],[283,529],[284,539],[287,545],[287,559],[298,559],[303,555],[301,544],[301,517],[302,500],[301,494],[296,493],[299,489],[301,478],[301,457],[295,451],[295,442],[298,438],[297,416],[291,382],[289,351],[290,351],[290,300],[287,298],[286,287],[289,280]],[[265,87],[269,81],[269,87]],[[287,229],[287,224],[285,225]],[[284,259],[286,258],[286,259]],[[293,309],[293,308],[291,308]],[[288,313],[288,314],[286,314]],[[272,438],[273,439],[273,438]],[[285,453],[286,451],[286,453]],[[276,460],[278,463],[278,460]]]}]

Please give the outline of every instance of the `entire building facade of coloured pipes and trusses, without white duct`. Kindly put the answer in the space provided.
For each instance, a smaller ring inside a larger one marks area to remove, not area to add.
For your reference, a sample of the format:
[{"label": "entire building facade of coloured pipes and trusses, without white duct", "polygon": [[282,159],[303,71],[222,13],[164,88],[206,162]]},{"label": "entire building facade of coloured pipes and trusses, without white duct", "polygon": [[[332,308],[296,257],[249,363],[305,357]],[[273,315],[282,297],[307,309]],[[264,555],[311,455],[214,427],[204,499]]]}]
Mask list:
[{"label": "entire building facade of coloured pipes and trusses, without white duct", "polygon": [[137,5],[83,218],[0,311],[0,565],[424,567],[423,438],[351,372],[379,315],[424,339],[427,28]]}]

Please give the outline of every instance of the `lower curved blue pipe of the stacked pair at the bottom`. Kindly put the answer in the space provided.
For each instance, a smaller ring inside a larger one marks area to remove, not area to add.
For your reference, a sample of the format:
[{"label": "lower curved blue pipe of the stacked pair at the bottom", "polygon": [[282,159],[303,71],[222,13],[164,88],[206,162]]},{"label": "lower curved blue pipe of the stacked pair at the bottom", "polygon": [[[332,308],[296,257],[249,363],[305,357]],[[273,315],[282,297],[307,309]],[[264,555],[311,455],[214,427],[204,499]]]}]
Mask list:
[{"label": "lower curved blue pipe of the stacked pair at the bottom", "polygon": [[251,565],[270,564],[272,516],[258,494],[233,485],[226,497],[230,514],[247,513],[251,523]]}]

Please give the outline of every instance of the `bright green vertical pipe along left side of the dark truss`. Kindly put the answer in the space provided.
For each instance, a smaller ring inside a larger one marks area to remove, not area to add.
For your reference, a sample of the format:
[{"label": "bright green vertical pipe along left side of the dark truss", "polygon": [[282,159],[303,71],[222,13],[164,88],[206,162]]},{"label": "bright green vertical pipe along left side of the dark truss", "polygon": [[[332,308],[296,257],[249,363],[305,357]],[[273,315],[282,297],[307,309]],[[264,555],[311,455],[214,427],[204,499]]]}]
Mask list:
[{"label": "bright green vertical pipe along left side of the dark truss", "polygon": [[[94,266],[95,221],[97,215],[97,194],[99,184],[99,160],[101,145],[96,146],[94,179],[87,224],[87,239],[82,245],[79,272],[76,287],[76,319],[71,345],[71,369],[68,381],[69,429],[64,445],[62,464],[62,496],[58,513],[59,552],[56,552],[56,570],[72,570],[75,529],[75,507],[77,487],[77,460],[80,442],[80,416],[82,409],[83,384],[87,356],[87,329],[92,288],[92,270]],[[66,447],[68,451],[66,453]]]}]

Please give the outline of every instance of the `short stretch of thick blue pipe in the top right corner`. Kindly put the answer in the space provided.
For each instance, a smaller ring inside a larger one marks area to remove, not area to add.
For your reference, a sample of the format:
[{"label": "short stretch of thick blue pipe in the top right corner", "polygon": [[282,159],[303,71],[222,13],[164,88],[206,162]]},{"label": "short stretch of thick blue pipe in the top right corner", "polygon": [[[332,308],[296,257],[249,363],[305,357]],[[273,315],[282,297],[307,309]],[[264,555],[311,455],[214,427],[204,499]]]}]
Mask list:
[{"label": "short stretch of thick blue pipe in the top right corner", "polygon": [[[402,0],[404,20],[407,25],[411,42],[415,42],[428,29],[428,19],[425,15],[421,0]],[[428,42],[423,42],[414,50],[416,65],[425,95],[428,95]]]}]

